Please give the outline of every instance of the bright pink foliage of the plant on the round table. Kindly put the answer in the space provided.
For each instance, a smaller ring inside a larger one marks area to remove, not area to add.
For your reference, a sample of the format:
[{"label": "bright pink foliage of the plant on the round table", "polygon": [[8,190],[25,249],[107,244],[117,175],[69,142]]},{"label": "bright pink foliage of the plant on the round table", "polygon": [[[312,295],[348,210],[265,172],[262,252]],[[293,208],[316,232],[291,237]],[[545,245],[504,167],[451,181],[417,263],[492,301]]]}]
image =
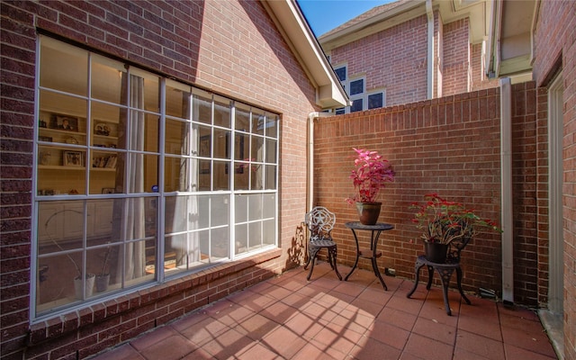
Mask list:
[{"label": "bright pink foliage of the plant on the round table", "polygon": [[378,151],[354,148],[356,159],[350,178],[356,189],[356,195],[347,198],[348,203],[375,202],[380,189],[386,183],[394,181],[392,166],[378,154]]}]

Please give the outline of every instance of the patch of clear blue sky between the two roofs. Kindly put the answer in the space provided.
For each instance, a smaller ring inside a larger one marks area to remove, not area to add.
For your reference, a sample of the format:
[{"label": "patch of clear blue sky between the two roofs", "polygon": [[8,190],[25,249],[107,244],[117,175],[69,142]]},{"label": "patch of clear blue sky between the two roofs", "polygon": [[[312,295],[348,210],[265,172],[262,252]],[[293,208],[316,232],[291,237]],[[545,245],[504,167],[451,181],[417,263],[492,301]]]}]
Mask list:
[{"label": "patch of clear blue sky between the two roofs", "polygon": [[375,6],[394,0],[297,0],[316,37]]}]

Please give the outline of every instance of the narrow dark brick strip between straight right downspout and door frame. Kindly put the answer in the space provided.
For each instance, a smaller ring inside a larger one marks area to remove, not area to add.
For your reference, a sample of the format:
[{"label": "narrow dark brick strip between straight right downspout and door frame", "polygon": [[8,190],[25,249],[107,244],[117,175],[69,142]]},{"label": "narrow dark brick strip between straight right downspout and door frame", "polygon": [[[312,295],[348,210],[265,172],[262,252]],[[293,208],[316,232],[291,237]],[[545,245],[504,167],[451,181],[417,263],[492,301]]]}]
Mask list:
[{"label": "narrow dark brick strip between straight right downspout and door frame", "polygon": [[[542,240],[547,244],[547,233],[538,232],[539,229],[545,229],[548,226],[546,217],[538,218],[540,210],[548,212],[548,179],[547,176],[539,177],[548,172],[547,132],[538,126],[542,121],[546,121],[546,118],[544,116],[542,119],[541,116],[545,112],[537,111],[538,93],[535,83],[513,85],[512,89],[514,94],[512,99],[514,301],[536,306],[538,304],[537,269],[544,268],[544,266],[539,266],[539,254],[545,255],[541,259],[542,265],[545,264],[546,269],[548,267],[548,249],[539,247],[541,242],[538,238],[539,235],[543,236]],[[543,100],[540,108],[545,110],[547,100]],[[539,186],[541,189],[538,189]],[[547,293],[547,284],[544,290]]]}]

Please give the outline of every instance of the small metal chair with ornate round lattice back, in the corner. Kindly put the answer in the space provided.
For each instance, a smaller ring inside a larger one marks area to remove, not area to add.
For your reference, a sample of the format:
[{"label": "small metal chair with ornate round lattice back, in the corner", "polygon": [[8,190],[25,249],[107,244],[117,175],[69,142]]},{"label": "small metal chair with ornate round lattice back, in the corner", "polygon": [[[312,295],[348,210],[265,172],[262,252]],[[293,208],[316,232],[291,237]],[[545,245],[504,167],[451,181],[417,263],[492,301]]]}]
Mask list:
[{"label": "small metal chair with ornate round lattice back, in the corner", "polygon": [[312,264],[310,274],[306,279],[310,280],[311,278],[318,252],[322,248],[326,248],[328,250],[329,264],[336,272],[336,275],[338,275],[338,279],[342,280],[342,275],[338,273],[338,266],[336,265],[338,246],[330,234],[334,228],[334,224],[336,224],[336,215],[334,212],[329,211],[323,206],[317,206],[310,212],[306,213],[304,222],[306,223],[306,227],[310,230],[310,239],[308,241],[308,261],[304,266],[304,270]]}]

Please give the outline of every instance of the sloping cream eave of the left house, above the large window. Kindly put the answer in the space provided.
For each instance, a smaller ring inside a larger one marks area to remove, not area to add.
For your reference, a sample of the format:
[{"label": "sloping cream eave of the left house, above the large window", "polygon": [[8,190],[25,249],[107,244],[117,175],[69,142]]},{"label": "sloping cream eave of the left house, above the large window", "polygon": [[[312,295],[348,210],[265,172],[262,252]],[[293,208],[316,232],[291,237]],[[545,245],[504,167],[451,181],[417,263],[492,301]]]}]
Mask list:
[{"label": "sloping cream eave of the left house, above the large window", "polygon": [[294,0],[261,0],[284,40],[293,50],[311,83],[316,87],[316,103],[322,109],[338,108],[350,103],[338,76],[320,48],[320,43]]}]

